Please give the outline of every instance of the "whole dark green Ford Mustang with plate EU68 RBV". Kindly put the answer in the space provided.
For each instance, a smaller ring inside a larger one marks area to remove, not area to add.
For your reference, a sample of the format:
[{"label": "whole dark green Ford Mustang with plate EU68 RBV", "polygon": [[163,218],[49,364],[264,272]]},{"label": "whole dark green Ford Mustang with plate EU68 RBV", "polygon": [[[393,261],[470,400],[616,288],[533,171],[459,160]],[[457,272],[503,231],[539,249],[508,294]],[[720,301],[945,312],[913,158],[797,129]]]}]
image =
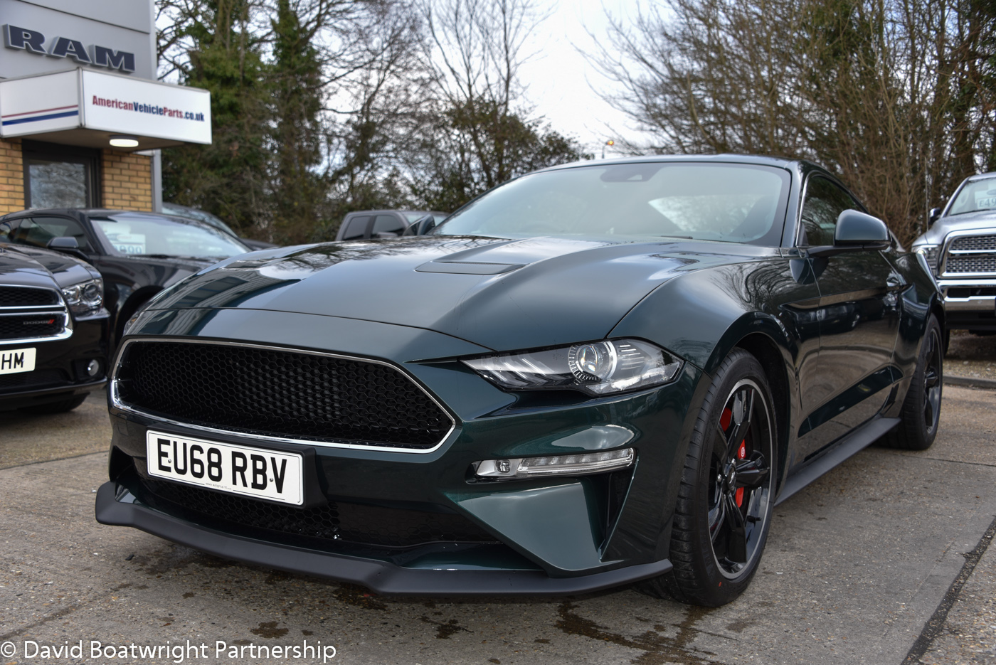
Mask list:
[{"label": "whole dark green Ford Mustang with plate EU68 RBV", "polygon": [[98,520],[384,593],[717,605],[777,502],[935,436],[933,279],[813,164],[573,164],[412,231],[160,294]]}]

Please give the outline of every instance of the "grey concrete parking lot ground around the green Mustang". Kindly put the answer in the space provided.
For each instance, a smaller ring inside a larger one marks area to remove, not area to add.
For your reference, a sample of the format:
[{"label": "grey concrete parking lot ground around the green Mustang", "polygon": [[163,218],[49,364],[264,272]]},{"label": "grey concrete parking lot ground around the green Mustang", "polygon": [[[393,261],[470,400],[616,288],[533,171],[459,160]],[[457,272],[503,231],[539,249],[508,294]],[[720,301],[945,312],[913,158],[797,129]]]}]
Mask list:
[{"label": "grey concrete parking lot ground around the green Mustang", "polygon": [[[199,554],[94,521],[100,397],[0,414],[0,643],[16,649],[0,663],[321,662],[272,651],[306,641],[334,663],[996,663],[994,406],[948,386],[929,451],[869,448],[778,507],[750,589],[712,610],[631,588],[387,598]],[[80,657],[42,658],[80,640]],[[92,657],[91,640],[114,648]]]}]

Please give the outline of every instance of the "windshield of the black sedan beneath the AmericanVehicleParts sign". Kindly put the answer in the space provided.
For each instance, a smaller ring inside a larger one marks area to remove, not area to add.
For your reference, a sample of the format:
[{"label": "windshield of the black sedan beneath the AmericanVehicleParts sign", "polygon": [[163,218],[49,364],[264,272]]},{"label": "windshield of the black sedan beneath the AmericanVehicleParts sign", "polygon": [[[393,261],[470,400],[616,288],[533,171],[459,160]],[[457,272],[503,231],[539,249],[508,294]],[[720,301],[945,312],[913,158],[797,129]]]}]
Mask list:
[{"label": "windshield of the black sedan beneath the AmericanVehicleParts sign", "polygon": [[94,227],[121,254],[228,258],[249,249],[224,231],[183,217],[91,217]]}]

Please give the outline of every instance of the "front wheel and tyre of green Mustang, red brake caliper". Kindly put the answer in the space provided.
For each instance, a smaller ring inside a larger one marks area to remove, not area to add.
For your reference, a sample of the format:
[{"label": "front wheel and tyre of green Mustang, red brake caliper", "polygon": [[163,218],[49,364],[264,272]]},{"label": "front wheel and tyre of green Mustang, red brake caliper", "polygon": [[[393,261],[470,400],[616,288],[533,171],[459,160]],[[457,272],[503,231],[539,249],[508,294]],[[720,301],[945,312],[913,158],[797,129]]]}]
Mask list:
[{"label": "front wheel and tyre of green Mustang, red brake caliper", "polygon": [[674,567],[639,590],[717,607],[750,584],[775,503],[773,404],[761,364],[735,348],[716,371],[688,442],[671,531]]}]

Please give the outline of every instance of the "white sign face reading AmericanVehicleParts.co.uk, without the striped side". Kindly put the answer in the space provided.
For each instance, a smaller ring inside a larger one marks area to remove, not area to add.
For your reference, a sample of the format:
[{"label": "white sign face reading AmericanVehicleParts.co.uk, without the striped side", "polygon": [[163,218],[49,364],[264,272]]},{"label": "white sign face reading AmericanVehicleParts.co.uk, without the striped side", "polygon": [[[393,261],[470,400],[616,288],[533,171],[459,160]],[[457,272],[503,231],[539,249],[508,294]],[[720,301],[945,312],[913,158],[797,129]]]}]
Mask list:
[{"label": "white sign face reading AmericanVehicleParts.co.uk, without the striped side", "polygon": [[84,71],[83,117],[89,129],[211,142],[211,95],[199,88]]}]

